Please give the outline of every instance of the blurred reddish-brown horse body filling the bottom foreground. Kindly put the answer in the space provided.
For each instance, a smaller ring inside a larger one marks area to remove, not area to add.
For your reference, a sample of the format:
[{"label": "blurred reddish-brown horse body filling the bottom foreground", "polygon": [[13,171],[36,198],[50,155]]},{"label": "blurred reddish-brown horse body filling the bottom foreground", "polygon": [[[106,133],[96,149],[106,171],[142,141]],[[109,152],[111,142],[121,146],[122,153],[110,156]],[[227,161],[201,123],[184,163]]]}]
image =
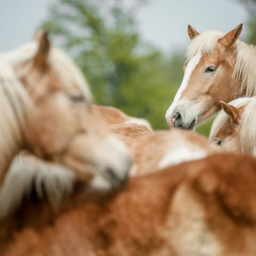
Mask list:
[{"label": "blurred reddish-brown horse body filling the bottom foreground", "polygon": [[256,255],[255,170],[250,156],[219,154],[105,197],[77,185],[58,213],[34,198],[1,223],[0,254]]}]

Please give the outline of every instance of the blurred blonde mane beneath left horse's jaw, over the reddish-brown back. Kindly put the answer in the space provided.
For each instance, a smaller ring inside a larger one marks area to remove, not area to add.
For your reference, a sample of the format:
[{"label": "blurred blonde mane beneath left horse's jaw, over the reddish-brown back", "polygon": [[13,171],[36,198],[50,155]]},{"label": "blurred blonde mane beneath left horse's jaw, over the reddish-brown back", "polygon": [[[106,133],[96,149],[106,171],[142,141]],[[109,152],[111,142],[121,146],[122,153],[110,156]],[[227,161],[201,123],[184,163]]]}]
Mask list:
[{"label": "blurred blonde mane beneath left horse's jaw, over the reddish-brown back", "polygon": [[16,210],[33,188],[38,198],[46,198],[54,210],[71,194],[74,172],[58,164],[37,161],[33,156],[15,157],[0,188],[0,221]]}]

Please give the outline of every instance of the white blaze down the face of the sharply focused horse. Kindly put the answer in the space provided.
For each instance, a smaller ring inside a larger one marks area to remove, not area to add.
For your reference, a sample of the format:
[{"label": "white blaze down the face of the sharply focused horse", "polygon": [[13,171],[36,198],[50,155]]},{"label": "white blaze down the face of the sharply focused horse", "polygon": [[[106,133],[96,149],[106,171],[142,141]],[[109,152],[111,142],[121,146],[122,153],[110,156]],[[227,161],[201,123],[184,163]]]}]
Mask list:
[{"label": "white blaze down the face of the sharply focused horse", "polygon": [[169,120],[172,118],[173,115],[173,109],[176,107],[177,102],[179,101],[180,97],[181,97],[181,93],[186,89],[190,76],[193,72],[193,70],[195,69],[196,65],[199,63],[200,59],[201,59],[201,53],[198,52],[189,62],[188,65],[186,67],[185,70],[185,74],[183,76],[183,80],[182,83],[179,87],[178,92],[176,93],[174,100],[171,104],[171,106],[167,109],[166,114],[165,114],[165,119]]}]

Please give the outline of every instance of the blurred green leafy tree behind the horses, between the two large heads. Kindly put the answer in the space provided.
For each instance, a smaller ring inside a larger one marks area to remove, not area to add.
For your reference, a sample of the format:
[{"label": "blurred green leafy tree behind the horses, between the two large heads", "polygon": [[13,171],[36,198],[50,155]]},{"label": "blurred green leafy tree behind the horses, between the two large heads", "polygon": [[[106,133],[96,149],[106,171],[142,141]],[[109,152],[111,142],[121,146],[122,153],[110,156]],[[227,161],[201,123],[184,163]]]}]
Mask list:
[{"label": "blurred green leafy tree behind the horses, between the two large heads", "polygon": [[145,0],[59,0],[42,27],[73,55],[95,102],[167,127],[164,114],[182,77],[183,55],[164,58],[140,38],[135,12]]}]

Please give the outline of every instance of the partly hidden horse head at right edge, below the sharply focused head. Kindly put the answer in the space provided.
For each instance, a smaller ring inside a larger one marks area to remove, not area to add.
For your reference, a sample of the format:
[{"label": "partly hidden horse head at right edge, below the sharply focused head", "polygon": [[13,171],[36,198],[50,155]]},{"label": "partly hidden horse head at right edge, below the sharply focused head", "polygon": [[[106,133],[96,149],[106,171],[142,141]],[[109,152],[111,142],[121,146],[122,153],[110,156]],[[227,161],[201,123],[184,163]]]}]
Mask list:
[{"label": "partly hidden horse head at right edge, below the sharply focused head", "polygon": [[255,155],[256,153],[256,98],[238,98],[228,104],[214,119],[210,140],[223,150]]}]

